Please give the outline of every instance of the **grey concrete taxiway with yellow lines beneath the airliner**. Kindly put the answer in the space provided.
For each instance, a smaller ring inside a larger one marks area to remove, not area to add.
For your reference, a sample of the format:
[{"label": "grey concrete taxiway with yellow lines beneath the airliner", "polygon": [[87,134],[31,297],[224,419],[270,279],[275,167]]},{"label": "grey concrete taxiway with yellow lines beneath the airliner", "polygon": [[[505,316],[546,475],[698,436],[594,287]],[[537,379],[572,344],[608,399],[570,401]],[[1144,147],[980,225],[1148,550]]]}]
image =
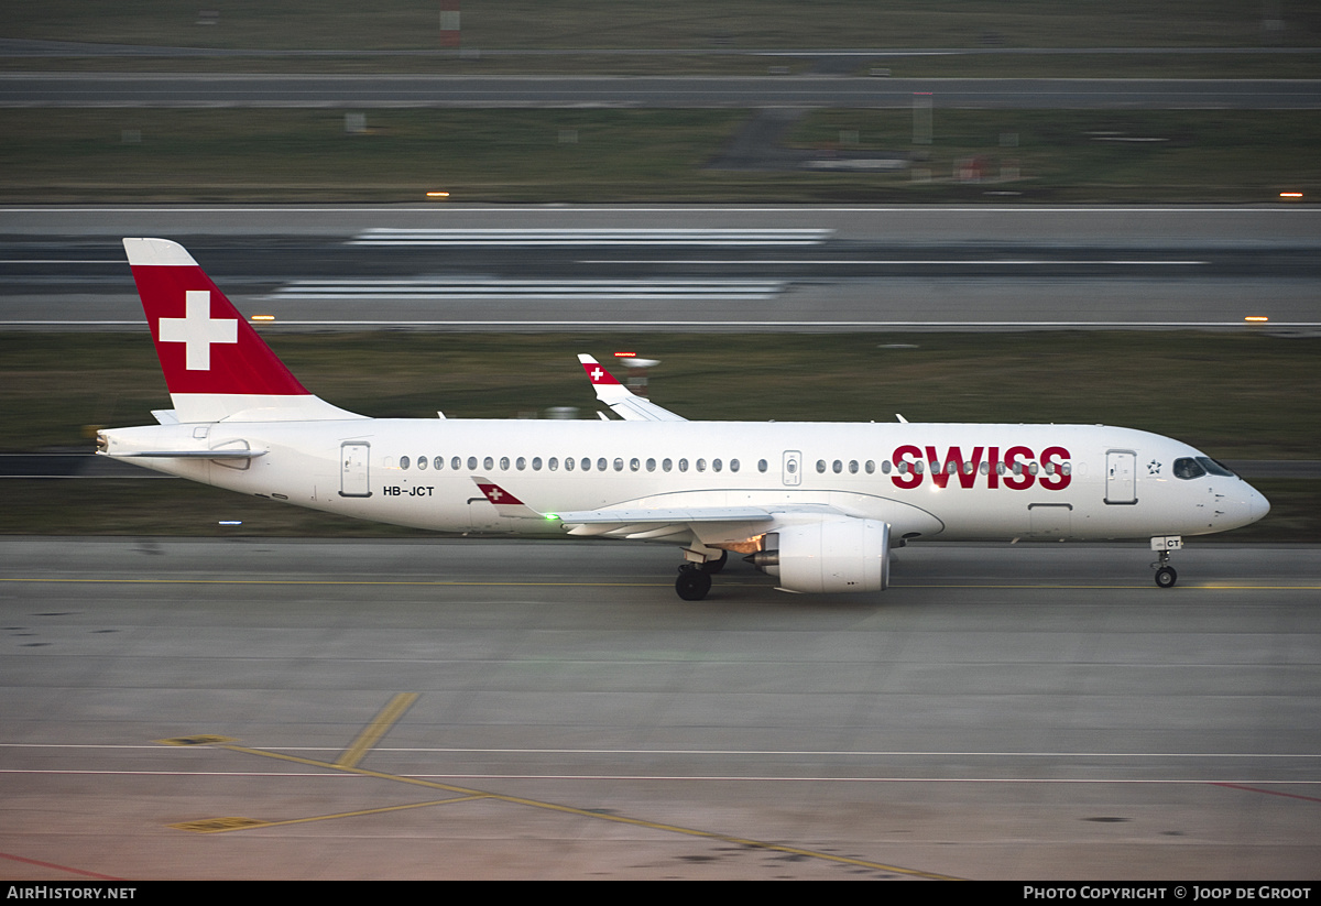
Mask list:
[{"label": "grey concrete taxiway with yellow lines beneath the airliner", "polygon": [[0,540],[0,876],[1316,878],[1321,557]]}]

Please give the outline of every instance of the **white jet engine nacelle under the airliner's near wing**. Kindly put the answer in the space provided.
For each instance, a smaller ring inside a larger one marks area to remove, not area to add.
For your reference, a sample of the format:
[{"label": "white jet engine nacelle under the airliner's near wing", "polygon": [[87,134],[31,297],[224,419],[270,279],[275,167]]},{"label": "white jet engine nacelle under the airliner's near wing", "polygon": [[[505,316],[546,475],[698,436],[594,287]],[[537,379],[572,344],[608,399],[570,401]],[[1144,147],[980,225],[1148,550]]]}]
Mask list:
[{"label": "white jet engine nacelle under the airliner's near wing", "polygon": [[838,519],[766,535],[753,565],[790,592],[880,592],[890,584],[890,526]]}]

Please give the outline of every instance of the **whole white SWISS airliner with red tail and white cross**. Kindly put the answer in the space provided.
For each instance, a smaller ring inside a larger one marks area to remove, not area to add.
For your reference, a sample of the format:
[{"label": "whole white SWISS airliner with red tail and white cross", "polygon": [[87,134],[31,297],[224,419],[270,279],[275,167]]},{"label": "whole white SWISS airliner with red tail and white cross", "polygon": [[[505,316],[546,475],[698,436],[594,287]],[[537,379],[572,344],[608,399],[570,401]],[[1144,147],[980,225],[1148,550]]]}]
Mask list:
[{"label": "whole white SWISS airliner with red tail and white cross", "polygon": [[378,522],[672,543],[694,601],[731,551],[789,592],[877,592],[913,539],[1151,539],[1269,503],[1203,453],[1104,425],[686,421],[580,361],[620,420],[370,419],[300,384],[188,251],[124,239],[173,409],[98,435],[104,456]]}]

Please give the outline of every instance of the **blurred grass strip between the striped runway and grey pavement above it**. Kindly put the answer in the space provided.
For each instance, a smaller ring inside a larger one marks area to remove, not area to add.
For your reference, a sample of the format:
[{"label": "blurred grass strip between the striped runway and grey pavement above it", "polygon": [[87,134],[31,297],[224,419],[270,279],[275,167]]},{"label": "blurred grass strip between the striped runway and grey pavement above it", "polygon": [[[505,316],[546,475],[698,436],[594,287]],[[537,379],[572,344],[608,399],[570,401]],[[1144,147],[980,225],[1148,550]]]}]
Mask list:
[{"label": "blurred grass strip between the striped runway and grey pavement above it", "polygon": [[[808,114],[787,141],[882,152],[885,173],[715,170],[723,110],[3,110],[0,203],[1263,202],[1321,193],[1321,111]],[[976,180],[964,178],[975,160]],[[962,176],[960,176],[962,174]]]}]

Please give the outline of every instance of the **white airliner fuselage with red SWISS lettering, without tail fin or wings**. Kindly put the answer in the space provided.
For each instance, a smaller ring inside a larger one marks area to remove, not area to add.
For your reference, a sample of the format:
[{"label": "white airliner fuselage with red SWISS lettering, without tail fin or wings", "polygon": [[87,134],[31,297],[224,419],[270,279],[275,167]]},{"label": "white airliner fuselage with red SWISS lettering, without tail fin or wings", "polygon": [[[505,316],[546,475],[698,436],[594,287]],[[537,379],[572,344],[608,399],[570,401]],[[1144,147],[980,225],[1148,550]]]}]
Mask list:
[{"label": "white airliner fuselage with red SWISS lettering, without tail fin or wings", "polygon": [[889,523],[892,543],[1202,535],[1269,508],[1192,446],[1106,425],[221,421],[106,432],[104,452],[240,448],[263,454],[135,461],[362,519],[522,536],[564,535],[567,526],[511,518],[474,478],[539,514],[820,508]]}]

